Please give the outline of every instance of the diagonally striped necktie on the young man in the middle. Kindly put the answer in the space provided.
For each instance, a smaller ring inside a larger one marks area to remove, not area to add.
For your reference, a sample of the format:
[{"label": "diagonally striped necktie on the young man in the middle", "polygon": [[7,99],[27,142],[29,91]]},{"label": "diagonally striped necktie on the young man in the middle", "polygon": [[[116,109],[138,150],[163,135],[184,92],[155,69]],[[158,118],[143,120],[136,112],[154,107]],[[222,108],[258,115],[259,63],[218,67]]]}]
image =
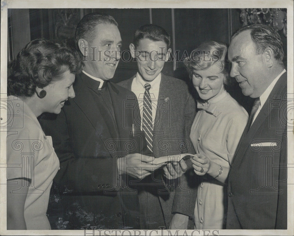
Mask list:
[{"label": "diagonally striped necktie on the young man in the middle", "polygon": [[153,138],[153,124],[152,124],[152,104],[151,97],[149,94],[149,89],[151,88],[150,84],[145,84],[145,92],[143,99],[143,131],[145,132],[145,137],[147,141],[148,149],[152,151],[152,138]]}]

